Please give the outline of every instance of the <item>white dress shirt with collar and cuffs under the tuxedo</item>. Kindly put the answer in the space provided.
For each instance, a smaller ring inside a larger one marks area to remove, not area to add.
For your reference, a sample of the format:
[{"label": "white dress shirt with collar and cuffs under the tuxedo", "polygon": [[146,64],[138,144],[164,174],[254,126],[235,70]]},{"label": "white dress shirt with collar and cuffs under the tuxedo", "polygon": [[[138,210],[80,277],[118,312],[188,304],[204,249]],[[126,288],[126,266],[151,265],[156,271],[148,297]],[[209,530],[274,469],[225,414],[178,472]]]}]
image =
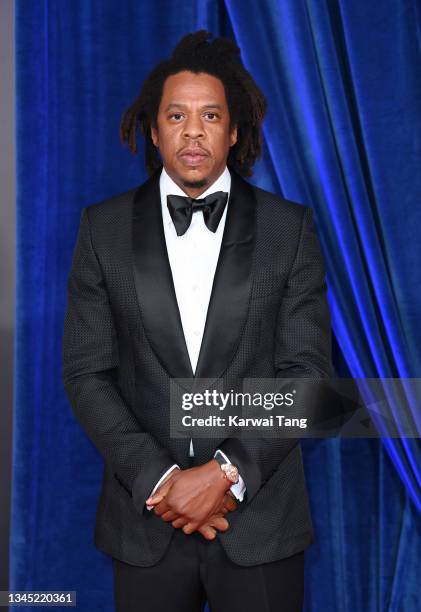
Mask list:
[{"label": "white dress shirt with collar and cuffs under the tuxedo", "polygon": [[[192,370],[195,372],[205,329],[206,314],[212,293],[213,278],[215,276],[222,235],[224,233],[225,219],[229,206],[229,195],[228,203],[225,206],[216,232],[211,232],[206,227],[203,213],[199,211],[193,214],[191,224],[186,233],[182,236],[177,236],[174,223],[167,207],[167,195],[174,194],[186,196],[187,194],[172,180],[165,168],[163,168],[161,172],[159,188],[161,193],[161,210],[165,242],[174,282],[175,295]],[[224,171],[216,181],[197,197],[205,198],[215,191],[225,191],[229,194],[230,189],[231,175],[228,168],[225,166]],[[226,463],[231,463],[225,453],[220,449],[217,449],[216,453],[220,453]],[[193,440],[190,440],[189,454],[191,457],[194,456]],[[151,495],[159,487],[167,474],[177,467],[179,466],[175,463],[161,476],[153,488]],[[239,481],[231,486],[231,491],[238,500],[243,500],[246,486],[241,476]],[[146,507],[150,510],[153,506]]]}]

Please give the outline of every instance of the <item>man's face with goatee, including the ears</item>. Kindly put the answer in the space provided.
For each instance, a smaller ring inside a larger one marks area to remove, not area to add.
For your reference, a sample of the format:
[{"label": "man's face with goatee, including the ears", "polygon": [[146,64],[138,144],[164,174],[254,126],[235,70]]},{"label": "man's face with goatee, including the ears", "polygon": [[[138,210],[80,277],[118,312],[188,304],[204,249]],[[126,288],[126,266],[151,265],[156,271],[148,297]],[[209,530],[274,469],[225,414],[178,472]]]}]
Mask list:
[{"label": "man's face with goatee, including the ears", "polygon": [[163,87],[153,143],[165,170],[190,197],[197,197],[225,168],[237,128],[229,128],[225,90],[218,78],[184,70]]}]

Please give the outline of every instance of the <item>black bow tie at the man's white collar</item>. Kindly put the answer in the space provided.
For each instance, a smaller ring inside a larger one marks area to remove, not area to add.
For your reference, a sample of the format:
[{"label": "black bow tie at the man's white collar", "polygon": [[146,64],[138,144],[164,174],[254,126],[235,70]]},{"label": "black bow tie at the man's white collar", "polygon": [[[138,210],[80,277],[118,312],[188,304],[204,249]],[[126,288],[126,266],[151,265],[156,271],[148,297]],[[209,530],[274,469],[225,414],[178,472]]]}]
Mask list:
[{"label": "black bow tie at the man's white collar", "polygon": [[206,198],[195,200],[188,196],[167,196],[167,206],[173,220],[177,236],[182,236],[189,229],[193,213],[203,210],[203,219],[211,232],[216,232],[224,213],[228,193],[215,191]]}]

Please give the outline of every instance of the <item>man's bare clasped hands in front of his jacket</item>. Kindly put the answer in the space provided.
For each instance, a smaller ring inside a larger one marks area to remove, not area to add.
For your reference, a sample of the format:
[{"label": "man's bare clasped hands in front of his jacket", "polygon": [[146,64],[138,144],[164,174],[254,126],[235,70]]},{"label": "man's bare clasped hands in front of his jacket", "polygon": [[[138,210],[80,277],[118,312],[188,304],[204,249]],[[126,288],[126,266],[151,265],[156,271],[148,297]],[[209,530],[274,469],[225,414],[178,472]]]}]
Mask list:
[{"label": "man's bare clasped hands in front of his jacket", "polygon": [[186,470],[174,469],[159,489],[146,500],[162,520],[182,528],[185,534],[198,531],[207,540],[216,537],[216,530],[229,527],[227,512],[236,509],[231,484],[216,459]]}]

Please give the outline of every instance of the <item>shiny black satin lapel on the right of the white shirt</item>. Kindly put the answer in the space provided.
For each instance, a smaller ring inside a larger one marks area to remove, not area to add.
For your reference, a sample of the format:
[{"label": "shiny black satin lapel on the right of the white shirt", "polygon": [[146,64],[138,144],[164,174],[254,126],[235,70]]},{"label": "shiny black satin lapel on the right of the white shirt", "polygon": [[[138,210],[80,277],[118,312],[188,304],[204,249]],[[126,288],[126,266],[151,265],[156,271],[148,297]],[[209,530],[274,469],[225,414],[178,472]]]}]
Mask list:
[{"label": "shiny black satin lapel on the right of the white shirt", "polygon": [[224,234],[209,302],[196,378],[220,377],[237,350],[253,280],[256,202],[252,186],[231,171]]}]

